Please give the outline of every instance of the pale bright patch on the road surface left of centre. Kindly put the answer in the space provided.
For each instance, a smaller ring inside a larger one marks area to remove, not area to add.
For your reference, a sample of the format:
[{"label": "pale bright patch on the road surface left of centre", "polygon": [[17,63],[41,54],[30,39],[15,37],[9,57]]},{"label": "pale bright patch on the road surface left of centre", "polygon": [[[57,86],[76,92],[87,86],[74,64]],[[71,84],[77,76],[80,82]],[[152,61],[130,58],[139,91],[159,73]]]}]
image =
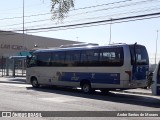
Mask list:
[{"label": "pale bright patch on the road surface left of centre", "polygon": [[58,102],[58,103],[76,101],[76,99],[67,98],[67,97],[39,98],[39,99],[43,101]]}]

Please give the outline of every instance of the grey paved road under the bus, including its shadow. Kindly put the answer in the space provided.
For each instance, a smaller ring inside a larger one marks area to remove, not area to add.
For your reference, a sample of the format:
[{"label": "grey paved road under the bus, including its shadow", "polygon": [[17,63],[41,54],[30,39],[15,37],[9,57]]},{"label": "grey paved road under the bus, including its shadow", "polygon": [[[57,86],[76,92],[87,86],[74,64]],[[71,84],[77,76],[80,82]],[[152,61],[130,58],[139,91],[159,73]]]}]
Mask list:
[{"label": "grey paved road under the bus, including its shadow", "polygon": [[[31,85],[23,82],[0,83],[0,91],[0,111],[160,111],[160,97],[150,95],[121,92],[111,92],[104,95],[98,91],[86,95],[77,89],[57,87],[34,89]],[[91,120],[97,118],[78,119]],[[101,119],[106,118],[101,117]],[[127,120],[128,118],[117,119]],[[131,117],[129,119],[143,118]],[[154,119],[158,120],[159,118]]]}]

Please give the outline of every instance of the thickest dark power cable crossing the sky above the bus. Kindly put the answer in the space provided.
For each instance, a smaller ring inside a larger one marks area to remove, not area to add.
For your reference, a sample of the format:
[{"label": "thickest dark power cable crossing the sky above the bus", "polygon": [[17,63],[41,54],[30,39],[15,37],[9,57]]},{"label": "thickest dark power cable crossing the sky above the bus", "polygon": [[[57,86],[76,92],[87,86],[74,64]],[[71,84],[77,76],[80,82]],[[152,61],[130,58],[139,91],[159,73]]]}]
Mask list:
[{"label": "thickest dark power cable crossing the sky above the bus", "polygon": [[[131,22],[131,21],[137,21],[137,20],[153,19],[153,18],[159,18],[159,17],[160,17],[160,12],[152,13],[152,14],[138,15],[138,16],[128,16],[128,17],[123,17],[123,18],[112,19],[112,24],[123,23],[123,22]],[[81,24],[71,24],[71,25],[57,26],[57,27],[27,29],[25,31],[27,31],[28,33],[39,33],[39,32],[48,32],[48,31],[68,30],[68,29],[76,29],[76,28],[106,25],[106,24],[110,24],[110,21],[111,20],[103,20],[103,21],[95,21],[95,22],[81,23]],[[8,32],[12,32],[12,33],[8,33]],[[22,30],[0,31],[1,35],[15,35],[15,34],[18,34],[16,32],[22,32]]]}]

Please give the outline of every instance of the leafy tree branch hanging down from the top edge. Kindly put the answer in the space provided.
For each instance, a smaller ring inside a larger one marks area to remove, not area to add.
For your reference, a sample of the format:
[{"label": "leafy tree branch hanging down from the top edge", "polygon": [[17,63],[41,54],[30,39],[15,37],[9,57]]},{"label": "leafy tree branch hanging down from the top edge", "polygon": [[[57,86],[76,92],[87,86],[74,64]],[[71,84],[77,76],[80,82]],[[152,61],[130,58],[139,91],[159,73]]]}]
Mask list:
[{"label": "leafy tree branch hanging down from the top edge", "polygon": [[51,0],[52,19],[63,20],[69,10],[74,7],[74,0]]}]

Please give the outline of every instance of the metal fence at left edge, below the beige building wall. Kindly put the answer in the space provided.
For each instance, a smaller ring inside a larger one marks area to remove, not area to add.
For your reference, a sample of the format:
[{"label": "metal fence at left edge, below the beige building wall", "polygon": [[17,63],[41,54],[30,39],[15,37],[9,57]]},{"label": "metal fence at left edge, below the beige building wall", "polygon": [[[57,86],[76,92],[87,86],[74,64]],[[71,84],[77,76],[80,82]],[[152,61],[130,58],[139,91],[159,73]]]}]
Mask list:
[{"label": "metal fence at left edge, below the beige building wall", "polygon": [[26,76],[26,58],[2,57],[0,58],[0,76]]}]

